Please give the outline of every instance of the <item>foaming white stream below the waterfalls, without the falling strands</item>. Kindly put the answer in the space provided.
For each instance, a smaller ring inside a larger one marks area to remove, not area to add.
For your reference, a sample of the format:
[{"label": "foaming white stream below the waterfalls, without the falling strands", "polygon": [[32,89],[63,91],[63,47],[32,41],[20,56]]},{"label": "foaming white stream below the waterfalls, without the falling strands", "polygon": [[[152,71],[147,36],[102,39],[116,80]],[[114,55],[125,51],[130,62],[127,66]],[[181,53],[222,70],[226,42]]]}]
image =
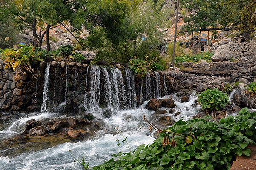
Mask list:
[{"label": "foaming white stream below the waterfalls, without the falling strands", "polygon": [[[192,106],[195,95],[190,96],[189,102],[182,103],[177,97],[174,101],[177,104],[176,111],[181,114],[174,117],[172,114],[166,114],[175,120],[184,119],[188,120],[195,116],[200,110],[199,106]],[[87,141],[79,141],[76,143],[67,142],[50,147],[36,152],[26,152],[19,156],[8,158],[0,157],[0,167],[3,170],[74,170],[82,169],[81,165],[74,162],[74,158],[68,152],[72,149],[72,153],[76,158],[84,156],[86,161],[89,162],[90,167],[111,159],[111,155],[118,153],[118,146],[116,139],[120,140],[120,150],[128,152],[128,147],[122,143],[122,136],[115,130],[122,130],[123,135],[128,136],[128,144],[131,150],[134,150],[140,144],[150,144],[154,141],[154,135],[148,130],[148,124],[143,121],[143,113],[147,119],[151,120],[154,111],[145,109],[147,102],[142,105],[141,109],[129,109],[118,111],[110,118],[103,119],[105,127],[103,130],[97,132],[94,139]],[[166,108],[167,109],[167,108]],[[59,113],[31,113],[30,116],[14,120],[10,123],[6,130],[0,131],[1,138],[9,138],[12,135],[19,134],[23,131],[24,125],[27,120],[49,120],[60,117]],[[62,115],[65,116],[65,115]]]}]

